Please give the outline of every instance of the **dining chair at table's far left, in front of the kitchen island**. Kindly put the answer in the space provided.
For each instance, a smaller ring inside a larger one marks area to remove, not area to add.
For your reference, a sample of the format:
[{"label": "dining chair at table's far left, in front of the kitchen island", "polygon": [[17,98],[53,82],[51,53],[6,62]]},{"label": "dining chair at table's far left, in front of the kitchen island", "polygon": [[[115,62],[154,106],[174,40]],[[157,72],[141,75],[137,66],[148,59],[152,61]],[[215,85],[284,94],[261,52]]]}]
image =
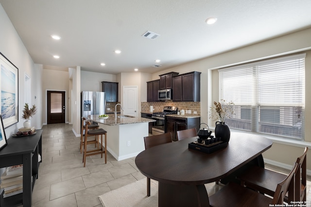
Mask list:
[{"label": "dining chair at table's far left, in front of the kitchen island", "polygon": [[[172,134],[164,133],[160,135],[144,137],[145,149],[172,142]],[[147,196],[150,196],[150,178],[147,177]]]}]

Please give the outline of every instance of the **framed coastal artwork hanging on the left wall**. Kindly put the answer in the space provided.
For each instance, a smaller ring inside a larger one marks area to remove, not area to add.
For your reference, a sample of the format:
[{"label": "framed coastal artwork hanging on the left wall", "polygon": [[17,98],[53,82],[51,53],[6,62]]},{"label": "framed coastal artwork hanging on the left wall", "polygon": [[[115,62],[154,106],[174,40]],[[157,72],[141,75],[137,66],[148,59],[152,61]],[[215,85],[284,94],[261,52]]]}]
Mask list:
[{"label": "framed coastal artwork hanging on the left wall", "polygon": [[1,116],[4,128],[18,122],[18,69],[0,52]]}]

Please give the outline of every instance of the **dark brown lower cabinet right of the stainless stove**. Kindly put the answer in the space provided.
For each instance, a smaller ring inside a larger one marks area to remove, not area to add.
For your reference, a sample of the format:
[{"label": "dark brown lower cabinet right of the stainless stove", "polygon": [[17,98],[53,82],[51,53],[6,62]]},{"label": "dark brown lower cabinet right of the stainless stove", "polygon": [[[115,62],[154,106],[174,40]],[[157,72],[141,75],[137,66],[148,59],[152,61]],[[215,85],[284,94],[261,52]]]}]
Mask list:
[{"label": "dark brown lower cabinet right of the stainless stove", "polygon": [[172,140],[177,141],[177,131],[196,128],[198,132],[200,129],[200,117],[192,118],[177,118],[166,116],[166,132],[171,132]]}]

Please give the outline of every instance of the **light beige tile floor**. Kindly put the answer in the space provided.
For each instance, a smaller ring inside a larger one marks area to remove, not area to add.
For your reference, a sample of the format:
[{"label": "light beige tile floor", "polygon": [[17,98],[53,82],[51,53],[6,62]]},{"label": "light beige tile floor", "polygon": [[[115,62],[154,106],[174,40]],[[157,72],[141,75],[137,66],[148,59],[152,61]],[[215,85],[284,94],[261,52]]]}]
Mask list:
[{"label": "light beige tile floor", "polygon": [[[42,129],[42,163],[32,194],[34,207],[102,207],[99,195],[145,178],[138,171],[135,158],[117,161],[109,153],[107,164],[100,155],[88,156],[84,168],[80,137],[74,136],[71,124],[48,124]],[[309,181],[307,200],[310,201]],[[215,183],[206,187],[208,194],[222,188]]]}]

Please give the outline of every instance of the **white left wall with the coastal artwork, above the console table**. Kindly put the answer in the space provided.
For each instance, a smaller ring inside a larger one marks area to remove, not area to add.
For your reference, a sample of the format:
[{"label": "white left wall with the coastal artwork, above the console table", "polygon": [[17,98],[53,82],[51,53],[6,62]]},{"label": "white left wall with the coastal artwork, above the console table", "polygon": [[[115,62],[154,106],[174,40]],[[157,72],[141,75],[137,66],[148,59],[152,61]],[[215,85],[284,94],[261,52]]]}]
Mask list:
[{"label": "white left wall with the coastal artwork, above the console table", "polygon": [[[35,65],[30,57],[23,42],[18,36],[9,17],[6,15],[3,7],[0,5],[0,52],[6,56],[18,68],[18,123],[13,124],[5,129],[7,138],[15,134],[18,128],[23,126],[24,120],[21,119],[24,106],[24,84],[25,74],[31,79],[31,102],[29,105],[35,104],[38,112],[32,118],[32,125],[40,129],[42,127],[42,97],[41,97],[41,74],[42,68]],[[39,86],[39,87],[38,87]],[[35,99],[36,96],[36,99]]]}]

